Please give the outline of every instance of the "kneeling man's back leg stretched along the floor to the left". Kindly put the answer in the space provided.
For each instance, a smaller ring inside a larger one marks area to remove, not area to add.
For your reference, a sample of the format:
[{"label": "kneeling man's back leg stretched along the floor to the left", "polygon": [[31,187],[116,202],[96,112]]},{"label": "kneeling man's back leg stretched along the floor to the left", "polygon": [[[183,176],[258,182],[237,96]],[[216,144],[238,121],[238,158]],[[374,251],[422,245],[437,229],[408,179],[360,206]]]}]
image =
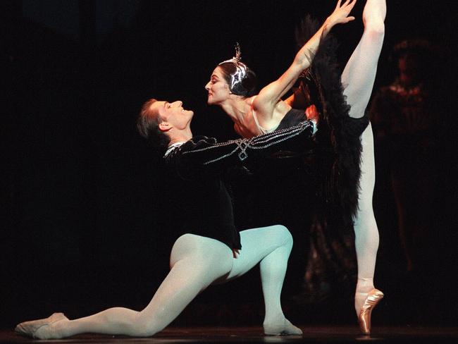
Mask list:
[{"label": "kneeling man's back leg stretched along the floor to the left", "polygon": [[[40,320],[27,321],[18,325],[19,332],[41,339],[87,332],[152,336],[178,317],[198,293],[217,278],[227,275],[232,266],[233,252],[228,246],[211,238],[185,234],[173,245],[171,271],[141,312],[115,307],[75,320],[64,317],[44,326]],[[37,328],[36,324],[41,327]],[[21,331],[24,329],[30,332]]]}]

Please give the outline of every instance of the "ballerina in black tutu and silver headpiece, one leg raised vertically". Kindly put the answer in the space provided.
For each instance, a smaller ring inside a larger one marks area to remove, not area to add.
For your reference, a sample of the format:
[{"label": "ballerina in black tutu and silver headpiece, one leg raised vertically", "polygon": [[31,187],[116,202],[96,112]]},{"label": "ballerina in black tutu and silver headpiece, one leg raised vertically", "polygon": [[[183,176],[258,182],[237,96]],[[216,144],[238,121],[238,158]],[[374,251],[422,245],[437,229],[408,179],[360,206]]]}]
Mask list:
[{"label": "ballerina in black tutu and silver headpiece, one leg raised vertically", "polygon": [[[385,0],[366,1],[362,17],[364,32],[338,80],[338,92],[333,90],[335,85],[328,85],[330,90],[326,90],[326,85],[323,85],[329,84],[329,79],[333,79],[333,67],[335,66],[328,63],[330,70],[326,68],[318,70],[318,66],[314,68],[312,63],[315,54],[320,54],[318,47],[321,46],[321,41],[325,39],[330,29],[338,23],[354,20],[354,17],[349,17],[349,12],[355,3],[356,0],[347,0],[342,4],[342,1],[339,0],[333,13],[299,50],[291,66],[278,80],[264,87],[259,94],[254,95],[256,76],[245,63],[240,61],[240,54],[220,63],[213,70],[211,80],[205,88],[209,92],[208,104],[221,106],[225,113],[233,119],[235,131],[239,135],[252,137],[260,133],[271,133],[273,130],[287,128],[289,125],[295,125],[298,121],[304,120],[304,111],[297,111],[290,106],[291,98],[287,101],[282,101],[280,98],[290,90],[299,75],[311,67],[309,75],[318,85],[318,89],[321,89],[321,92],[318,92],[318,99],[313,99],[313,102],[323,104],[321,106],[323,118],[327,118],[326,122],[333,136],[333,139],[328,138],[328,141],[333,142],[332,145],[336,151],[348,150],[351,146],[349,150],[353,154],[357,152],[356,159],[353,155],[350,156],[353,159],[338,161],[338,167],[340,166],[338,172],[341,176],[347,177],[347,180],[345,177],[340,177],[340,181],[352,186],[352,190],[347,192],[349,196],[346,202],[342,204],[349,208],[345,212],[352,216],[354,223],[358,264],[354,307],[361,332],[369,334],[371,311],[380,302],[383,293],[373,285],[379,240],[372,208],[375,183],[373,135],[369,120],[364,113],[371,96],[378,56],[383,44]],[[342,87],[343,90],[341,90]],[[339,99],[337,93],[342,96],[341,92],[343,92],[343,97]],[[323,96],[326,98],[323,99]],[[316,111],[315,106],[310,106],[305,111],[305,116],[311,116],[314,111]],[[318,136],[322,131],[318,131]],[[354,140],[355,138],[357,140]],[[345,145],[347,147],[344,147]]]}]

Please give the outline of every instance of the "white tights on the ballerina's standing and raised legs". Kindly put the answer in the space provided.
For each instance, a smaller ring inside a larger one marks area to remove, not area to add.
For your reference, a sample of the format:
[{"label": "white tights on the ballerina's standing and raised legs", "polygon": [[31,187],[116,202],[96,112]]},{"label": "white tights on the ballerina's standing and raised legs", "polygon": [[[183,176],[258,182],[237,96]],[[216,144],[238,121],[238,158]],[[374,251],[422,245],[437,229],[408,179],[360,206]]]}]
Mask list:
[{"label": "white tights on the ballerina's standing and raised legs", "polygon": [[[359,118],[364,115],[373,82],[376,78],[378,56],[385,35],[385,0],[367,0],[363,12],[364,33],[353,51],[342,73],[342,85],[349,115]],[[355,247],[358,262],[358,283],[354,307],[359,310],[367,293],[373,289],[373,275],[378,250],[378,228],[373,215],[372,195],[375,184],[375,162],[373,156],[373,134],[369,126],[361,135],[361,178],[359,179],[359,209],[354,219]]]}]

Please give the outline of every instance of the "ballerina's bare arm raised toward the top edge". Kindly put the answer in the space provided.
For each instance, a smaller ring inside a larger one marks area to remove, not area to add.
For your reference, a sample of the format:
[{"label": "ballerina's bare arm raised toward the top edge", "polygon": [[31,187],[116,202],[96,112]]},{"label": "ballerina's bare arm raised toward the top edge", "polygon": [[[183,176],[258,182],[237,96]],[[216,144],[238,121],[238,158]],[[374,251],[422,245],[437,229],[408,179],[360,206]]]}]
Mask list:
[{"label": "ballerina's bare arm raised toward the top edge", "polygon": [[341,2],[342,0],[338,1],[333,13],[326,19],[315,35],[304,44],[304,47],[297,52],[294,61],[292,61],[291,66],[285,73],[278,80],[264,87],[256,96],[252,106],[261,121],[268,122],[271,120],[273,110],[280,98],[294,85],[302,70],[310,66],[321,37],[325,37],[334,25],[354,20],[354,17],[348,15],[352,11],[354,4],[356,4],[356,0],[346,0],[342,5]]}]

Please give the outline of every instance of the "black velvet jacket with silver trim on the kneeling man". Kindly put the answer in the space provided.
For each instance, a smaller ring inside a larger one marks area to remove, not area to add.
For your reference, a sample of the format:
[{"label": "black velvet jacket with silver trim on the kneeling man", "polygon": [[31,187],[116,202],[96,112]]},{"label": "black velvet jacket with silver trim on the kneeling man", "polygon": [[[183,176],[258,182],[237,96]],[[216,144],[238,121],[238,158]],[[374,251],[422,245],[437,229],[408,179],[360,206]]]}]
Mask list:
[{"label": "black velvet jacket with silver trim on the kneeling man", "polygon": [[175,197],[170,217],[180,223],[178,236],[193,233],[240,249],[232,203],[221,174],[231,166],[249,164],[282,150],[300,152],[309,144],[313,128],[311,121],[303,121],[285,130],[221,143],[193,137],[168,152],[164,156],[171,178],[167,193]]}]

